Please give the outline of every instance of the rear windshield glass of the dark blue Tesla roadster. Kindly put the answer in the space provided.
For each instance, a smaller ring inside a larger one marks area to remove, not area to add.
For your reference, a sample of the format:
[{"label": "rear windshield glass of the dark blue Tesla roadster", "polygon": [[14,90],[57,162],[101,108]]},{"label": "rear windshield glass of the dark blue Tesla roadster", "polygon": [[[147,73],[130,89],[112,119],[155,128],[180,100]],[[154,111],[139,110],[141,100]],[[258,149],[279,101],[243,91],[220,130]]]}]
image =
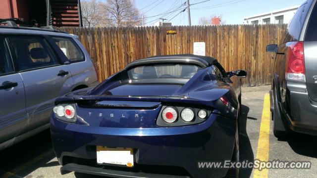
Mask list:
[{"label": "rear windshield glass of the dark blue Tesla roadster", "polygon": [[158,79],[158,78],[180,78],[190,79],[201,67],[195,65],[166,64],[138,66],[128,71],[129,78],[137,79]]}]

